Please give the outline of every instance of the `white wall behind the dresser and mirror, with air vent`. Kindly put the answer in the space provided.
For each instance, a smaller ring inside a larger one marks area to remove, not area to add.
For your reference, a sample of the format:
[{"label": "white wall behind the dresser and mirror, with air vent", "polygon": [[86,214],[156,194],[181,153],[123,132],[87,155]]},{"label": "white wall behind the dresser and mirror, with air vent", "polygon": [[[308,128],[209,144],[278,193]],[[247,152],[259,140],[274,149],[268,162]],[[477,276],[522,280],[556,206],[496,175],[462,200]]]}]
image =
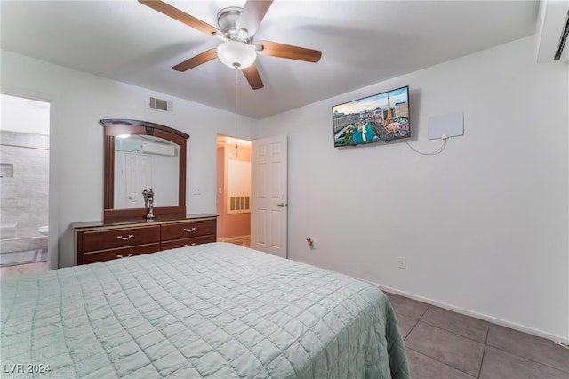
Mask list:
[{"label": "white wall behind the dresser and mirror, with air vent", "polygon": [[[188,213],[215,214],[217,133],[235,134],[235,116],[144,88],[2,51],[2,93],[49,101],[51,107],[50,250],[59,266],[74,262],[71,222],[98,221],[103,209],[103,118],[133,118],[188,133]],[[148,109],[148,96],[174,102],[174,113]],[[252,138],[258,121],[240,117]],[[198,187],[201,195],[192,195]],[[52,245],[55,244],[55,245]],[[52,255],[50,267],[57,267]]]}]

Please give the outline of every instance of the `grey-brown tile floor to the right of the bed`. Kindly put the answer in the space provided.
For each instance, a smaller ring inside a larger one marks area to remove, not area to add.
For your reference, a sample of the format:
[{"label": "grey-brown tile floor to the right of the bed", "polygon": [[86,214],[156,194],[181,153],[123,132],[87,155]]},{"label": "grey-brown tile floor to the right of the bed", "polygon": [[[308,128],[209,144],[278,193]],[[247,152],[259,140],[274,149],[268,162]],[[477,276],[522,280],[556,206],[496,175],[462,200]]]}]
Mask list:
[{"label": "grey-brown tile floor to the right of the bed", "polygon": [[569,350],[549,340],[388,294],[413,379],[567,379]]}]

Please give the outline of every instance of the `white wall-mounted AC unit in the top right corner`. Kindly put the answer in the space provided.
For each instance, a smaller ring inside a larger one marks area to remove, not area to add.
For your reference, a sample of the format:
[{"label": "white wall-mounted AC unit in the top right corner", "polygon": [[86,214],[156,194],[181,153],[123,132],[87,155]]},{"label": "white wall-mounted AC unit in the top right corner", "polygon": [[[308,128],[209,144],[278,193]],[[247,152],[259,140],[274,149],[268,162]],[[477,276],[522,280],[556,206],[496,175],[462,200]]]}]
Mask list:
[{"label": "white wall-mounted AC unit in the top right corner", "polygon": [[541,0],[538,13],[537,62],[569,60],[569,0]]}]

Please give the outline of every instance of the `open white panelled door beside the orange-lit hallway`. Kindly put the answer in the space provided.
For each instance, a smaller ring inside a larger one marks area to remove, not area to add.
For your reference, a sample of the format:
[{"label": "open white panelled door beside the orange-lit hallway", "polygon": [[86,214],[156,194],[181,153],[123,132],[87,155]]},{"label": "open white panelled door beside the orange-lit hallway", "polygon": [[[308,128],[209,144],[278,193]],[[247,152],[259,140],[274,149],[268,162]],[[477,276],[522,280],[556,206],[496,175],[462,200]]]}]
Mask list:
[{"label": "open white panelled door beside the orange-lit hallway", "polygon": [[251,247],[286,258],[287,141],[252,141]]}]

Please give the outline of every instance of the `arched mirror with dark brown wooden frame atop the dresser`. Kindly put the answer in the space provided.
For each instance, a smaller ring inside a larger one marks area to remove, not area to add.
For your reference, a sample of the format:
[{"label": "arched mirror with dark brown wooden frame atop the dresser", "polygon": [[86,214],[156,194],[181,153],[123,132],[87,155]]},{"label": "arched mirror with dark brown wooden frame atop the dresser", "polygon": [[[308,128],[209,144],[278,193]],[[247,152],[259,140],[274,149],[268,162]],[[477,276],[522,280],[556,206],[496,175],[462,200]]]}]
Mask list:
[{"label": "arched mirror with dark brown wooden frame atop the dresser", "polygon": [[103,220],[147,219],[143,191],[150,189],[156,220],[184,217],[189,135],[139,120],[103,119],[100,123],[105,128]]}]

